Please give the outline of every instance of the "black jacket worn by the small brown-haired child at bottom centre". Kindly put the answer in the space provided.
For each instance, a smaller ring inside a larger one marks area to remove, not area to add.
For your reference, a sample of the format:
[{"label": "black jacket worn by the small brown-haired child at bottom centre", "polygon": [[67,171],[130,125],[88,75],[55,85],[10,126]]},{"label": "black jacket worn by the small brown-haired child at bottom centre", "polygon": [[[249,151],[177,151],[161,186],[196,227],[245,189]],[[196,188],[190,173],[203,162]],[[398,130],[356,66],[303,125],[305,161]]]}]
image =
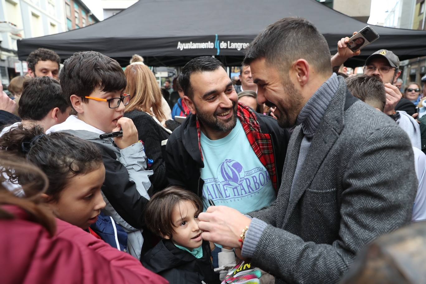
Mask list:
[{"label": "black jacket worn by the small brown-haired child at bottom centre", "polygon": [[210,246],[203,241],[203,257],[195,258],[189,252],[176,247],[170,240],[161,240],[141,259],[147,269],[166,278],[170,284],[219,284],[214,273]]}]

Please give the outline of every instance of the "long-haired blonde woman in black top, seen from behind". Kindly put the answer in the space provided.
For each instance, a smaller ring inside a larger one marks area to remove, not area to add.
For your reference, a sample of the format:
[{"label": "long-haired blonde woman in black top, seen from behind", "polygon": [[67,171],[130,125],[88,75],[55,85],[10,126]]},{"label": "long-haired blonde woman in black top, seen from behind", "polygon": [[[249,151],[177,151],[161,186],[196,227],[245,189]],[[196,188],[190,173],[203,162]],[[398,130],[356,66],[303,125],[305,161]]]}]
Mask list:
[{"label": "long-haired blonde woman in black top, seen from behind", "polygon": [[[145,153],[148,159],[153,160],[150,169],[154,174],[150,181],[154,191],[167,186],[166,166],[161,152],[161,141],[167,140],[171,131],[164,127],[166,115],[162,109],[163,96],[157,84],[154,73],[142,64],[133,64],[126,67],[127,86],[125,93],[132,98],[126,106],[124,116],[133,120],[138,129],[139,139],[144,142]],[[164,101],[164,104],[170,107]]]}]

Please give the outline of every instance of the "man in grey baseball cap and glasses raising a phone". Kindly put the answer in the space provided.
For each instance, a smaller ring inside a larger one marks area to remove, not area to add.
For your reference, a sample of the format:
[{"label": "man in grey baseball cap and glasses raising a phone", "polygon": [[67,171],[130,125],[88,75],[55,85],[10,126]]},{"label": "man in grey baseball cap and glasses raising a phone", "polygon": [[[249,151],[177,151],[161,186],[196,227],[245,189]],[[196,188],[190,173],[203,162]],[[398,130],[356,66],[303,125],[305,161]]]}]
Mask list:
[{"label": "man in grey baseball cap and glasses raising a phone", "polygon": [[[356,34],[356,32],[354,32]],[[333,72],[337,72],[348,58],[360,55],[360,51],[352,52],[347,43],[349,37],[342,38],[337,43],[337,54],[331,57],[331,66]],[[380,49],[370,55],[364,65],[364,75],[374,76],[385,85],[386,105],[384,113],[389,115],[402,129],[404,129],[412,142],[412,146],[421,149],[420,145],[420,127],[412,118],[415,106],[409,100],[402,98],[402,94],[396,83],[397,78],[401,75],[399,70],[399,58],[387,49]]]}]

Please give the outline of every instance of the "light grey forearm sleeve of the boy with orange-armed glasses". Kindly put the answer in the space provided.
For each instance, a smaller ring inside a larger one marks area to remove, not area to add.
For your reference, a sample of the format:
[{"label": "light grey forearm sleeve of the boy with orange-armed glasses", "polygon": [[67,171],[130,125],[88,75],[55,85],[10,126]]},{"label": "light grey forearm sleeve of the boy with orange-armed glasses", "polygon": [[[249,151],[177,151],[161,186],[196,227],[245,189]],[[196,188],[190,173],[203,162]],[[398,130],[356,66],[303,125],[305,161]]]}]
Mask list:
[{"label": "light grey forearm sleeve of the boy with orange-armed glasses", "polygon": [[144,198],[150,199],[148,189],[151,186],[149,176],[152,170],[147,170],[147,156],[144,151],[144,144],[135,143],[120,150],[120,163],[126,167],[129,180],[134,181],[136,190]]}]

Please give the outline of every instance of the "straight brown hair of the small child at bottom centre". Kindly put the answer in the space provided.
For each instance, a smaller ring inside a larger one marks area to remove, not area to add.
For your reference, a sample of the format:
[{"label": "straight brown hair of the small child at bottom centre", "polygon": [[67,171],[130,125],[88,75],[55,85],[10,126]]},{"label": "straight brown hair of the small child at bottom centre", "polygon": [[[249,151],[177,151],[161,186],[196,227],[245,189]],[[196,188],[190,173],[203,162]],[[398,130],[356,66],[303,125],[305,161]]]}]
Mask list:
[{"label": "straight brown hair of the small child at bottom centre", "polygon": [[155,193],[145,208],[145,224],[151,232],[160,237],[172,237],[176,226],[173,224],[173,210],[181,201],[191,201],[197,214],[203,212],[201,199],[181,186],[169,186]]}]

